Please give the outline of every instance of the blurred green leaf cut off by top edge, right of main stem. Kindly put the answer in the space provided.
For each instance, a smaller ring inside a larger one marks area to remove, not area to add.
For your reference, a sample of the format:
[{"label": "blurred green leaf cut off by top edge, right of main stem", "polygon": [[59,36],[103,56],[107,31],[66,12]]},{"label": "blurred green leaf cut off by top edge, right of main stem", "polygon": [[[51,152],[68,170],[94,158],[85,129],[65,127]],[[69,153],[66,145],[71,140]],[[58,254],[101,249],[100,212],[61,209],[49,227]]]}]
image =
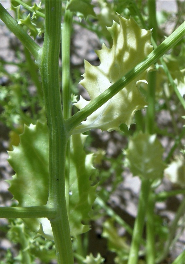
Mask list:
[{"label": "blurred green leaf cut off by top edge, right of main stem", "polygon": [[88,15],[96,16],[93,8],[94,6],[91,4],[91,0],[70,0],[67,5],[67,9],[75,12],[80,19],[86,19]]}]

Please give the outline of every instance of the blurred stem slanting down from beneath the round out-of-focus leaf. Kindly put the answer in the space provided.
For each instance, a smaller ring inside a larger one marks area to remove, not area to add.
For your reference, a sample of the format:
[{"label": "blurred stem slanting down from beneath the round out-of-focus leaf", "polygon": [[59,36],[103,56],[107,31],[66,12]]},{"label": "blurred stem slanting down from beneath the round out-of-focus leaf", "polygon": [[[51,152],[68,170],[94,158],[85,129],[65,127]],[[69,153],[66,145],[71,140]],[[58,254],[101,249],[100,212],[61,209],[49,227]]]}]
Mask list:
[{"label": "blurred stem slanting down from beneath the round out-of-focus leaf", "polygon": [[147,208],[148,196],[150,193],[150,180],[142,179],[141,190],[138,204],[138,215],[135,219],[134,231],[132,236],[132,243],[127,264],[138,263],[138,253],[142,232],[145,224],[145,211]]}]

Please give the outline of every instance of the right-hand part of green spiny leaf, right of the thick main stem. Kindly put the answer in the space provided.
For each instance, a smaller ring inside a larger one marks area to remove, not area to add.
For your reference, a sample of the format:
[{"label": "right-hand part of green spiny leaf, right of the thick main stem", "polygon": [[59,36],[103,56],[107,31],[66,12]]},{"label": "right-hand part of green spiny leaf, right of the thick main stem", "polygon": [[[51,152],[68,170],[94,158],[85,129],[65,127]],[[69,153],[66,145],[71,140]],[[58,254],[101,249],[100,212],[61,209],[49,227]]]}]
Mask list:
[{"label": "right-hand part of green spiny leaf, right of the thick main stem", "polygon": [[90,229],[89,212],[96,198],[96,185],[91,186],[89,180],[94,171],[93,154],[86,155],[85,139],[86,136],[80,134],[72,135],[71,138],[69,224],[75,237]]}]

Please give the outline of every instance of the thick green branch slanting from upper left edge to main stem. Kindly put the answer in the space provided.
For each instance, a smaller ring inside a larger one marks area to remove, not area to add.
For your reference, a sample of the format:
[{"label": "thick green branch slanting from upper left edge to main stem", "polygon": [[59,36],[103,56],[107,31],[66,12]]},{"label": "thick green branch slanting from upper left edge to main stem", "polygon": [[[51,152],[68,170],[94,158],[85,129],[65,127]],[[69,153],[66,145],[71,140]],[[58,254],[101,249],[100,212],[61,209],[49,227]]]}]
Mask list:
[{"label": "thick green branch slanting from upper left edge to main stem", "polygon": [[26,33],[22,26],[18,25],[15,19],[0,4],[0,18],[11,32],[21,41],[21,43],[30,51],[35,60],[39,61],[40,46]]}]

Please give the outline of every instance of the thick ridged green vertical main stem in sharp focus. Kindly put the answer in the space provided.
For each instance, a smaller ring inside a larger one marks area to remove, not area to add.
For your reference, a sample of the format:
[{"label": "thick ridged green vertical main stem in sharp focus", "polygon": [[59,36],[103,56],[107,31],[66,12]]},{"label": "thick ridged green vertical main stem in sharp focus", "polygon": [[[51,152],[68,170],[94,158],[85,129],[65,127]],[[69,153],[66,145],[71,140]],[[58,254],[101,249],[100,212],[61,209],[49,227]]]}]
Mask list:
[{"label": "thick ridged green vertical main stem in sharp focus", "polygon": [[45,1],[45,36],[40,58],[45,110],[49,133],[48,205],[57,211],[50,219],[59,264],[74,263],[65,202],[65,153],[68,136],[62,114],[59,85],[59,51],[62,1]]}]

